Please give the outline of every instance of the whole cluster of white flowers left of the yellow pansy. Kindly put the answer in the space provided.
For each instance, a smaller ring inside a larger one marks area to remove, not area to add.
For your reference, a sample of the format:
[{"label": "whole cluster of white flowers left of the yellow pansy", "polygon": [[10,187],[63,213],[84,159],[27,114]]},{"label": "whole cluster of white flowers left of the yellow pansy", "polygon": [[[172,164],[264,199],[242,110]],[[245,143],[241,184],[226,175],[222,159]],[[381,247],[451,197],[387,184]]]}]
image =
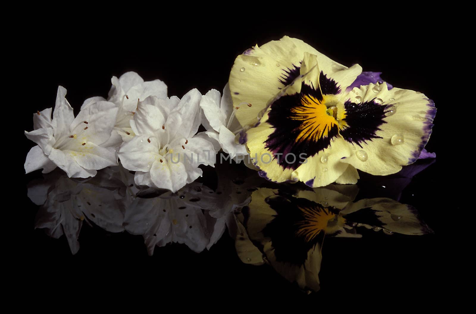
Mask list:
[{"label": "whole cluster of white flowers left of the yellow pansy", "polygon": [[[76,118],[66,89],[58,87],[53,117],[51,108],[38,111],[34,130],[25,131],[38,144],[27,155],[26,173],[60,167],[70,178],[88,178],[119,158],[136,171],[136,184],[175,192],[201,176],[199,165],[214,166],[218,150],[235,159],[247,155],[235,141],[241,126],[228,84],[223,96],[192,89],[179,99],[167,97],[164,82],[145,82],[135,72],[111,82],[108,99],[87,99]],[[200,124],[206,132],[197,133]]]}]

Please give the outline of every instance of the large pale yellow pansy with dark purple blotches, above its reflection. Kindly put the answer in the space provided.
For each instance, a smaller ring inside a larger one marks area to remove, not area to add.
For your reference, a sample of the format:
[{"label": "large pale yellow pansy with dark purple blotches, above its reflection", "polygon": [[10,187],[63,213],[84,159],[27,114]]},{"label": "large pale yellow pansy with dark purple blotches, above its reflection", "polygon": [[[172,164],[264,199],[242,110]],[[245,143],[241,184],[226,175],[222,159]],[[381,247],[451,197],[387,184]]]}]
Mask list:
[{"label": "large pale yellow pansy with dark purple blotches, above its reflection", "polygon": [[387,175],[415,162],[433,102],[379,80],[347,89],[360,73],[288,37],[238,56],[229,86],[238,121],[254,126],[241,143],[261,176],[316,187],[355,183],[356,169]]}]

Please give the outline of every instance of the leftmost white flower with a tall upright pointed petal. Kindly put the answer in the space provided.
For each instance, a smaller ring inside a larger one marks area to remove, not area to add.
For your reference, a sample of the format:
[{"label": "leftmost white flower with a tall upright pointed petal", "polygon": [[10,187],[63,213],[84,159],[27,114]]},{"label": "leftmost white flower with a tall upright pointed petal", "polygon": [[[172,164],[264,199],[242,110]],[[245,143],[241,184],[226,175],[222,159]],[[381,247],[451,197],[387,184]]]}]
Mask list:
[{"label": "leftmost white flower with a tall upright pointed petal", "polygon": [[47,173],[58,166],[70,178],[88,178],[95,176],[96,170],[117,165],[115,152],[100,146],[111,135],[116,105],[98,101],[74,118],[65,95],[66,89],[59,86],[53,119],[51,108],[33,114],[34,131],[25,131],[25,135],[38,145],[27,155],[26,173],[41,168]]}]

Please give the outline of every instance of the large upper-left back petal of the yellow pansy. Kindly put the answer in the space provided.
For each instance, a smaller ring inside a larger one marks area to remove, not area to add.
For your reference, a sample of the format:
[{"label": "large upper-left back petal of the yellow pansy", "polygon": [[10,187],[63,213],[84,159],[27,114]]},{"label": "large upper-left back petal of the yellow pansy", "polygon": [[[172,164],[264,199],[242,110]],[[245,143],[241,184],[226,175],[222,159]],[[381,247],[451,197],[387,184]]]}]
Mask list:
[{"label": "large upper-left back petal of the yellow pansy", "polygon": [[283,87],[302,75],[301,62],[305,53],[315,55],[326,79],[326,86],[337,94],[344,91],[360,74],[361,67],[347,67],[331,60],[296,38],[287,36],[255,46],[238,56],[231,69],[229,86],[236,116],[241,125],[253,125],[258,114]]}]

